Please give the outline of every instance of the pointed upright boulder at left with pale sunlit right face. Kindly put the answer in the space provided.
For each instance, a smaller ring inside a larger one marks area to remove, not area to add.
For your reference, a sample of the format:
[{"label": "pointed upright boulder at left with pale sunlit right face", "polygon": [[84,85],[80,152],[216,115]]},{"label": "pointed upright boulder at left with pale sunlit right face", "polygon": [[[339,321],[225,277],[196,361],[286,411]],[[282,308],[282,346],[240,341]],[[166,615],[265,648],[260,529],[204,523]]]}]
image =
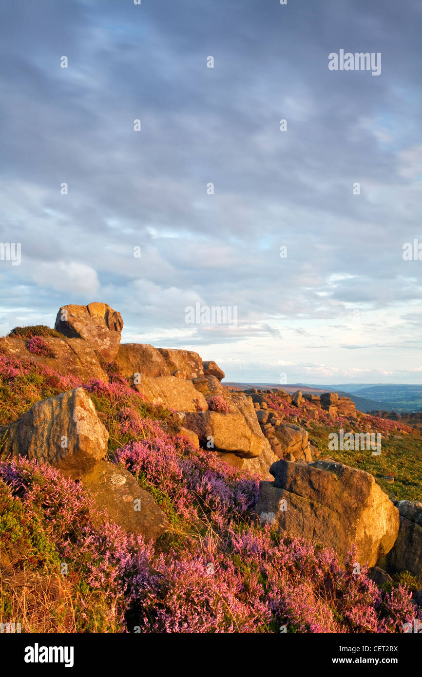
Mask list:
[{"label": "pointed upright boulder at left with pale sunlit right face", "polygon": [[5,451],[60,468],[72,479],[107,453],[108,432],[83,388],[37,402],[12,423]]}]

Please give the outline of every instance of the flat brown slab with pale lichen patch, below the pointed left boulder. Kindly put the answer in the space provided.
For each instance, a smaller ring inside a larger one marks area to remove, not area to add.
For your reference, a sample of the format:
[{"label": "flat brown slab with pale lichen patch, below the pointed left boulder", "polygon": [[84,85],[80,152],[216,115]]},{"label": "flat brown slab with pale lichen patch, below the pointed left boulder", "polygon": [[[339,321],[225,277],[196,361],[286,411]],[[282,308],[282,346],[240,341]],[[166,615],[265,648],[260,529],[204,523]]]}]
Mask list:
[{"label": "flat brown slab with pale lichen patch, below the pointed left boulder", "polygon": [[127,533],[142,534],[146,540],[155,541],[169,529],[163,510],[125,468],[100,461],[81,477],[81,483],[93,494],[96,508],[106,510],[108,517]]}]

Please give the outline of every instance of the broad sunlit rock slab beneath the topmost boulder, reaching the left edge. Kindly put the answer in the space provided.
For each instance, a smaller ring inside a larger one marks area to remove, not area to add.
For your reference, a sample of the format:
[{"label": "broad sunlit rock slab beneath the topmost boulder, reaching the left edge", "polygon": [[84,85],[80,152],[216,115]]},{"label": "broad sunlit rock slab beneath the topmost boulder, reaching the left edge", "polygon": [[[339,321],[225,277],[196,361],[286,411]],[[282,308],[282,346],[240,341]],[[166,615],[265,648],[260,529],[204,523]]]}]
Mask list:
[{"label": "broad sunlit rock slab beneath the topmost boulder, reaching the left edge", "polygon": [[0,339],[0,349],[17,357],[26,357],[34,364],[43,364],[59,374],[71,374],[81,380],[90,378],[108,381],[108,375],[98,362],[93,349],[83,339],[44,339],[50,356],[34,355],[28,351],[28,341],[5,336]]}]

